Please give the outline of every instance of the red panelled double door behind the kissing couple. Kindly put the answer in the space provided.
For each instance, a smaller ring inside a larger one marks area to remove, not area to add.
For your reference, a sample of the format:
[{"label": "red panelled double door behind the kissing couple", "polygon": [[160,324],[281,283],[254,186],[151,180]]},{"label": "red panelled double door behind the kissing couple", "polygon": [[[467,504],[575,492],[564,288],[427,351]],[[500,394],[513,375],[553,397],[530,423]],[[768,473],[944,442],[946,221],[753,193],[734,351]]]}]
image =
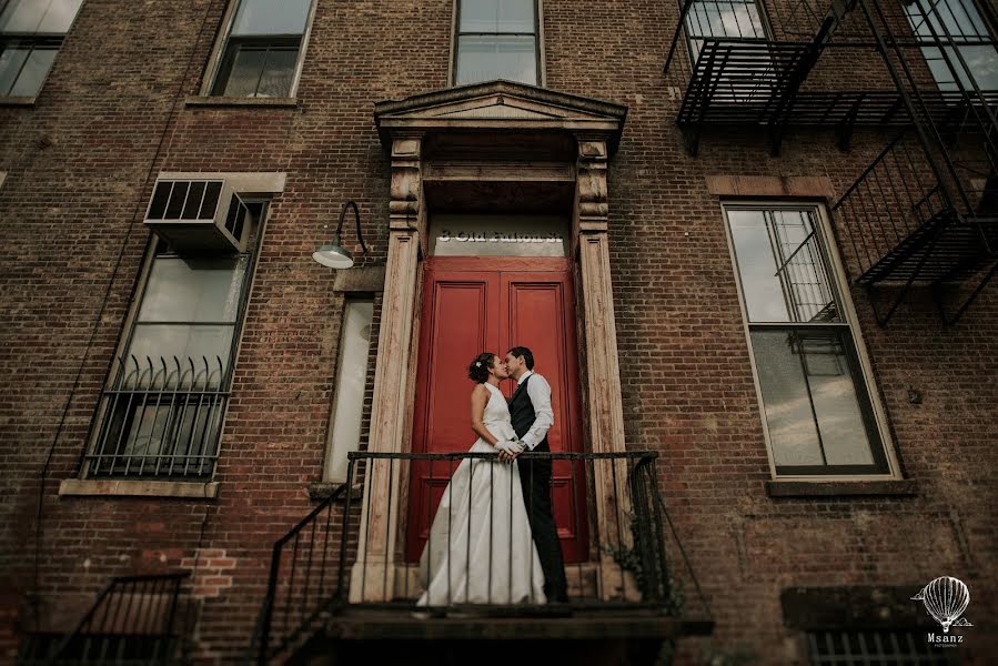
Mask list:
[{"label": "red panelled double door behind the kissing couple", "polygon": [[[471,430],[468,364],[483,351],[504,357],[513,346],[534,353],[551,384],[552,452],[581,452],[578,357],[572,264],[561,258],[430,258],[423,284],[414,453],[463,453]],[[508,398],[512,380],[501,386]],[[415,461],[410,485],[406,556],[417,561],[453,465]],[[448,468],[450,467],[450,468]],[[566,562],[586,556],[584,465],[555,461],[552,497]]]}]

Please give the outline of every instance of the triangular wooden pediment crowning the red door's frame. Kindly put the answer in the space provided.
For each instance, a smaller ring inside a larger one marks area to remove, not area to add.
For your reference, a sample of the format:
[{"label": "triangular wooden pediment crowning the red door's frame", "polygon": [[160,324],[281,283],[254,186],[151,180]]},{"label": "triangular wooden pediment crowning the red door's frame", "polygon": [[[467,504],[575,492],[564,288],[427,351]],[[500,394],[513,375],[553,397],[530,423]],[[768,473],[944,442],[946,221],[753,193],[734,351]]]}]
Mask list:
[{"label": "triangular wooden pediment crowning the red door's frame", "polygon": [[619,135],[627,108],[512,81],[491,81],[374,105],[382,139],[419,130],[568,130]]}]

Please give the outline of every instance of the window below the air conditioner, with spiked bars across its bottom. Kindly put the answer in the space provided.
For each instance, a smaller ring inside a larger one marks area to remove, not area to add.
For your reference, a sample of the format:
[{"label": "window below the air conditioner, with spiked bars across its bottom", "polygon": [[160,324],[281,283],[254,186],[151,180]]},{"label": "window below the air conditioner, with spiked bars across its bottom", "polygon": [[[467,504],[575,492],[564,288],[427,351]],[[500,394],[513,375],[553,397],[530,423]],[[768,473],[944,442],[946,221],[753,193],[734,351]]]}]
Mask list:
[{"label": "window below the air conditioner, with spiked bars across its bottom", "polygon": [[246,203],[244,252],[181,253],[154,241],[94,420],[89,477],[212,476],[264,209]]}]

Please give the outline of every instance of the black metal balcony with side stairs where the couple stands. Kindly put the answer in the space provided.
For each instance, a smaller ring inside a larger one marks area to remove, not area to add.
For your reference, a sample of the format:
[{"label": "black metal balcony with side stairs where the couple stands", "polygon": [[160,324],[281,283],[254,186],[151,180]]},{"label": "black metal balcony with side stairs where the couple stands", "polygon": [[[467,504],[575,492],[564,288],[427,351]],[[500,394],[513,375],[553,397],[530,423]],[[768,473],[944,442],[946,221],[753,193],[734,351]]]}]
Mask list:
[{"label": "black metal balcony with side stairs where the couple stands", "polygon": [[[363,488],[377,487],[379,475],[389,475],[389,487],[411,488],[413,478],[429,474],[429,487],[442,491],[463,460],[474,460],[481,465],[474,474],[485,474],[490,465],[502,464],[494,457],[351,453],[349,482],[274,545],[270,583],[248,660],[301,660],[304,654],[327,653],[334,645],[356,640],[488,640],[512,632],[525,639],[662,640],[712,630],[709,608],[659,495],[657,454],[651,452],[522,454],[524,460],[552,460],[555,480],[563,477],[565,487],[553,493],[556,515],[558,502],[582,503],[573,515],[585,524],[560,525],[561,532],[587,535],[583,556],[565,565],[567,602],[467,603],[460,595],[448,595],[417,607],[423,592],[420,565],[406,557],[411,548],[401,544],[411,545],[406,536],[413,536],[413,529],[419,538],[429,536],[420,537],[420,527],[406,524],[416,521],[406,505],[414,503],[422,512],[423,504],[417,493],[410,491],[406,500],[400,492],[397,518],[390,515],[385,522],[395,525],[397,536],[389,573],[365,555],[370,539],[385,535],[372,535],[362,524],[369,500]],[[613,488],[606,505],[596,501],[596,483]],[[440,500],[438,494],[434,496]],[[427,504],[426,511],[435,513],[435,503]],[[478,526],[490,535],[491,527]],[[451,533],[446,534],[450,539]],[[444,545],[451,546],[450,541]],[[502,545],[496,545],[496,553],[502,553]],[[385,585],[383,575],[394,584]],[[362,594],[364,585],[367,592]],[[379,592],[372,594],[372,588]]]}]

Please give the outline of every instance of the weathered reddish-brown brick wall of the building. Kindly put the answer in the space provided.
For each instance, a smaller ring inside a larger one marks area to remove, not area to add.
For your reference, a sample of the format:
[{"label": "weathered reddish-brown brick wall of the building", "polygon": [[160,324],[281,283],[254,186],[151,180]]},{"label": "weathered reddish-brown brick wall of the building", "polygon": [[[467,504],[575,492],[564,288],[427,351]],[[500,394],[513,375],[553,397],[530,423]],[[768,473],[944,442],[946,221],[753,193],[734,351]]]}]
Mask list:
[{"label": "weathered reddish-brown brick wall of the building", "polygon": [[[373,250],[362,265],[384,261],[389,163],[373,103],[446,87],[451,10],[451,0],[320,0],[299,104],[214,108],[184,99],[200,88],[223,1],[85,0],[37,104],[0,108],[0,566],[4,606],[19,607],[4,655],[36,626],[24,598],[36,547],[42,627],[71,624],[111,575],[188,567],[196,555],[194,654],[230,662],[245,647],[271,545],[310,511],[308,485],[322,477],[342,296],[310,254],[353,199]],[[839,152],[831,131],[790,131],[772,157],[756,133],[713,132],[689,158],[662,73],[676,18],[674,2],[544,1],[547,85],[629,108],[609,169],[627,443],[662,453],[666,501],[718,620],[710,642],[681,654],[743,647],[789,663],[802,655],[780,589],[916,586],[942,574],[972,591],[966,653],[998,652],[998,290],[951,329],[923,293],[879,329],[867,295],[854,293],[917,495],[769,497],[732,261],[705,178],[821,175],[840,193],[887,133],[859,132]],[[159,171],[288,173],[246,313],[220,495],[59,498],[59,481],[80,470]]]}]

